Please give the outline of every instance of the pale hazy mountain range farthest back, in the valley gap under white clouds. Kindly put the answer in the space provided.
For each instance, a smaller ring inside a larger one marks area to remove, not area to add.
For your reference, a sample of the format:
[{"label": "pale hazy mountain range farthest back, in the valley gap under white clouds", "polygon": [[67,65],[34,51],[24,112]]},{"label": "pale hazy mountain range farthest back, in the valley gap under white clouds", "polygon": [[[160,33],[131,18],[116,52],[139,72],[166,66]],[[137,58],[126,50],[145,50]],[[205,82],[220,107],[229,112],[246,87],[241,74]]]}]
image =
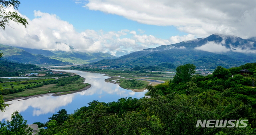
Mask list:
[{"label": "pale hazy mountain range farthest back, in the valley gap under white clouds", "polygon": [[29,49],[29,48],[23,48],[18,47],[20,49],[23,49],[29,53],[37,54],[37,55],[43,55],[45,57],[49,57],[51,59],[56,59],[62,62],[69,62],[74,64],[88,64],[96,61],[100,61],[102,59],[115,59],[117,57],[110,55],[108,53],[82,53],[79,51],[47,51],[42,49]]}]

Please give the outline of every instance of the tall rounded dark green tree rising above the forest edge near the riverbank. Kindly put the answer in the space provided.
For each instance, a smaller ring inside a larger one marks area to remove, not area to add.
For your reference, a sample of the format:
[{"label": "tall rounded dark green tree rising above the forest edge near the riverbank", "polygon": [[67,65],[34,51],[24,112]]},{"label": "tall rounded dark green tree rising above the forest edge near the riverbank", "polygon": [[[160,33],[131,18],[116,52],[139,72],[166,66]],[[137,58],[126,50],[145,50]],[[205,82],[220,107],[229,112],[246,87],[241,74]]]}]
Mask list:
[{"label": "tall rounded dark green tree rising above the forest edge near the riverbank", "polygon": [[174,82],[188,82],[191,74],[196,72],[196,66],[193,64],[185,64],[176,68],[176,75],[173,77]]}]

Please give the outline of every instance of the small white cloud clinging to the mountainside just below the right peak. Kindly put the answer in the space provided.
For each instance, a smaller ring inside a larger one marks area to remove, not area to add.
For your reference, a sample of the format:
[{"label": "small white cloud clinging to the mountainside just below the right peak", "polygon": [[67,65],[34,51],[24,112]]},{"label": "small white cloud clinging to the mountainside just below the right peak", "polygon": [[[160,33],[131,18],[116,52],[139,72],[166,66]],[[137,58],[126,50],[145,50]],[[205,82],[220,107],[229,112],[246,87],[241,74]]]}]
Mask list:
[{"label": "small white cloud clinging to the mountainside just below the right peak", "polygon": [[200,47],[195,47],[197,50],[208,51],[212,53],[226,53],[231,51],[230,49],[222,46],[222,44],[215,43],[214,41],[208,42]]}]

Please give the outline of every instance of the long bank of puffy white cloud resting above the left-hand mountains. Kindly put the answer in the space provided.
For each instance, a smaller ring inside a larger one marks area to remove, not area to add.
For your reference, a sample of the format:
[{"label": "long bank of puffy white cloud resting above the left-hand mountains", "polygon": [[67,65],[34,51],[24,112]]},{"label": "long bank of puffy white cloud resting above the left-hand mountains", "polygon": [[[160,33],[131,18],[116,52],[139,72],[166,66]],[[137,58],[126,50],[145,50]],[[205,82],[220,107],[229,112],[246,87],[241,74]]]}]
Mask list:
[{"label": "long bank of puffy white cloud resting above the left-hand mountains", "polygon": [[[28,19],[27,28],[11,23],[13,28],[6,27],[5,31],[0,32],[0,43],[32,49],[103,52],[112,55],[117,51],[133,52],[171,43],[169,40],[152,35],[139,35],[136,31],[128,29],[120,31],[87,29],[79,33],[71,23],[61,20],[55,14],[34,11],[34,16],[33,20],[23,16]],[[140,29],[138,31],[143,33]]]}]

